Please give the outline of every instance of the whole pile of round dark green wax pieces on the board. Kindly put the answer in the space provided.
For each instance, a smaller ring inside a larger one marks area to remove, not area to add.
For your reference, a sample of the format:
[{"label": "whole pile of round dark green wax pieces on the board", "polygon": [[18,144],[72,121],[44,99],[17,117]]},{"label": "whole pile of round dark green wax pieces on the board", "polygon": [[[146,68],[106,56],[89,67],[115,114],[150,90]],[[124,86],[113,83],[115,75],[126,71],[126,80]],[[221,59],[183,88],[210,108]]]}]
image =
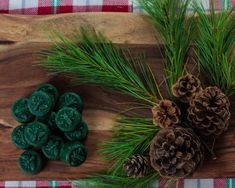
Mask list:
[{"label": "whole pile of round dark green wax pieces on the board", "polygon": [[57,88],[48,83],[13,104],[12,114],[21,125],[13,130],[12,142],[25,150],[19,157],[24,173],[40,172],[46,160],[62,160],[70,166],[79,166],[86,160],[82,142],[88,127],[82,120],[82,110],[78,94],[59,96]]}]

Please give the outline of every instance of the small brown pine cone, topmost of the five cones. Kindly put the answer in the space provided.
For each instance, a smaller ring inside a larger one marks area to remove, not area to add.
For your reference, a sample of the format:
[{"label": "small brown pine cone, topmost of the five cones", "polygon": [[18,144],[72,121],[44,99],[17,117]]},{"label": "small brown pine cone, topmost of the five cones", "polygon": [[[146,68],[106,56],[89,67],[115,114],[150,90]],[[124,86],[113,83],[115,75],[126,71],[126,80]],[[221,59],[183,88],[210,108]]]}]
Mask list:
[{"label": "small brown pine cone, topmost of the five cones", "polygon": [[201,90],[200,80],[192,74],[180,77],[172,86],[173,95],[184,103],[188,103]]}]

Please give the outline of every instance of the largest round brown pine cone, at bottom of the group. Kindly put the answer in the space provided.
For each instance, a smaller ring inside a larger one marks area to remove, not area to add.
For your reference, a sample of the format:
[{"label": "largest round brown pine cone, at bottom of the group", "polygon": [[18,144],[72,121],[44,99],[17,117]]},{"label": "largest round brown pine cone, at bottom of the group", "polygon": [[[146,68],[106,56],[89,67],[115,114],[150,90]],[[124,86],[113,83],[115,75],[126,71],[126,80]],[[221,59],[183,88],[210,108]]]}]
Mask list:
[{"label": "largest round brown pine cone, at bottom of the group", "polygon": [[152,167],[164,177],[181,178],[193,173],[204,159],[199,139],[189,129],[162,129],[150,145]]}]

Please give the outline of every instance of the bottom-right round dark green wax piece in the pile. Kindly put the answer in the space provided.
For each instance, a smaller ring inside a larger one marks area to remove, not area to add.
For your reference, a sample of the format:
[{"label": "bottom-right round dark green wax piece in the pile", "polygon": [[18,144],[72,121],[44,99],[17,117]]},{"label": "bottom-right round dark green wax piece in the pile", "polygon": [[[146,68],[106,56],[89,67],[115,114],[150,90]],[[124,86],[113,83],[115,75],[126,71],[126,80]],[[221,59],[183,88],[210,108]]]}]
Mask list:
[{"label": "bottom-right round dark green wax piece in the pile", "polygon": [[70,166],[80,166],[85,162],[87,152],[79,141],[66,143],[60,152],[60,159]]}]

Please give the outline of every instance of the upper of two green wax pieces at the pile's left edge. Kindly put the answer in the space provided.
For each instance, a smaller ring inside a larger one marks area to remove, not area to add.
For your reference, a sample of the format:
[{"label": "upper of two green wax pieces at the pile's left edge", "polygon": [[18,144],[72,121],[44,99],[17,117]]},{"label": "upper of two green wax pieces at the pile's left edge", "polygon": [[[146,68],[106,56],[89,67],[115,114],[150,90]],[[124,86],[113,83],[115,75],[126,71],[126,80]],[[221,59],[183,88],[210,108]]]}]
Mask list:
[{"label": "upper of two green wax pieces at the pile's left edge", "polygon": [[22,98],[15,101],[11,107],[12,115],[18,122],[27,123],[33,120],[34,116],[28,108],[28,99]]}]

